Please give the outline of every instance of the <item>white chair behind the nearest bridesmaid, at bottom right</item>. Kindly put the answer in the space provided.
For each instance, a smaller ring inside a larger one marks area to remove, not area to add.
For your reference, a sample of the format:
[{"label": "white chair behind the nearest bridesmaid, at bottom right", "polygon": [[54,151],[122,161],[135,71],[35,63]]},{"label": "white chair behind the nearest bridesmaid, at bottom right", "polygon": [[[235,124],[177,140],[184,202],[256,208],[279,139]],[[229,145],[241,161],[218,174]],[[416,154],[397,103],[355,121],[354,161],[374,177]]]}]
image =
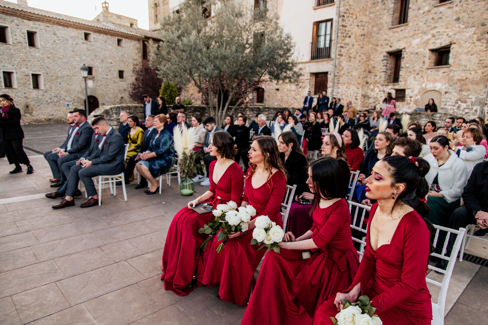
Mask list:
[{"label": "white chair behind the nearest bridesmaid, at bottom right", "polygon": [[[437,298],[437,304],[432,303],[432,325],[444,325],[444,308],[446,305],[446,295],[447,295],[447,288],[449,287],[449,281],[452,275],[452,269],[454,268],[454,263],[456,262],[457,253],[459,251],[459,247],[461,245],[461,241],[463,240],[464,234],[466,229],[459,228],[459,230],[454,230],[442,226],[434,225],[435,227],[435,237],[433,245],[437,245],[437,239],[439,237],[439,231],[444,230],[447,232],[446,239],[444,240],[444,246],[442,249],[442,253],[431,253],[430,256],[435,256],[444,260],[447,260],[447,268],[446,270],[433,267],[431,265],[428,266],[429,269],[434,270],[436,272],[444,274],[442,276],[442,283],[437,282],[435,280],[429,279],[426,277],[426,282],[431,283],[435,286],[440,287],[439,297]],[[452,247],[451,253],[449,256],[446,256],[446,248],[447,242],[449,241],[450,236],[456,236],[456,240],[454,242],[454,246]]]}]

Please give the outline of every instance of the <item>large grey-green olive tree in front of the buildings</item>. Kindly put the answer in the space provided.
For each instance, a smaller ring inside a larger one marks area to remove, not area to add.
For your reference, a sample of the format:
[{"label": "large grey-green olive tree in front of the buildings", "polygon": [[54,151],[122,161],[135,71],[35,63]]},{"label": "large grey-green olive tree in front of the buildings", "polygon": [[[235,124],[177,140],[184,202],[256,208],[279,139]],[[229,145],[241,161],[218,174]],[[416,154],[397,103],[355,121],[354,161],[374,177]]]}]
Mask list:
[{"label": "large grey-green olive tree in front of the buildings", "polygon": [[241,105],[264,80],[298,84],[301,76],[278,18],[257,15],[243,2],[183,1],[163,19],[160,51],[150,56],[164,82],[195,85],[219,124],[233,114],[230,102]]}]

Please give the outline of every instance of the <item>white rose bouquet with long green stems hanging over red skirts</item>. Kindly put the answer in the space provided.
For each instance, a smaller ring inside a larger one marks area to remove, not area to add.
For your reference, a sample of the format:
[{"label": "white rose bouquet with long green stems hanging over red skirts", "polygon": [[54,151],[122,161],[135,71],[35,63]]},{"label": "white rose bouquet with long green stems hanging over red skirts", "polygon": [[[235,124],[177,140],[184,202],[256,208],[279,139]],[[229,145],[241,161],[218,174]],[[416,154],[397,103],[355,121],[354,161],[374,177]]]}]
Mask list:
[{"label": "white rose bouquet with long green stems hanging over red skirts", "polygon": [[[245,232],[247,230],[247,223],[251,221],[252,216],[256,215],[256,209],[250,205],[237,208],[234,201],[229,201],[227,204],[217,205],[212,213],[215,215],[215,219],[203,225],[203,228],[198,229],[198,232],[208,235],[200,248],[204,250],[211,236],[219,233],[217,240],[223,240],[217,248],[217,252],[220,253],[231,232]],[[220,229],[223,231],[219,232]]]}]

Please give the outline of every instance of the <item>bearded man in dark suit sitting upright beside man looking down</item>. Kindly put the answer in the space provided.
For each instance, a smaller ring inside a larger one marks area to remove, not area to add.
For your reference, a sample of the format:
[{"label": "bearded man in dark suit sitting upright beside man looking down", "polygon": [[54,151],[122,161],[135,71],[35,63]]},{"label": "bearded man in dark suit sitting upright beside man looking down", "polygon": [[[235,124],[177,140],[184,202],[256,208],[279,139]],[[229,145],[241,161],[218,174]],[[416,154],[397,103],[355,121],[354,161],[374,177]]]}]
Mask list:
[{"label": "bearded man in dark suit sitting upright beside man looking down", "polygon": [[[86,121],[86,112],[84,110],[74,110],[73,120],[75,122],[75,128],[71,132],[66,146],[61,147],[61,151],[58,152],[57,158],[56,156],[48,155],[48,163],[53,175],[55,173],[59,173],[60,175],[59,181],[52,184],[51,187],[61,187],[64,185],[68,175],[65,175],[62,172],[61,166],[68,161],[79,159],[81,154],[90,146],[93,129]],[[54,166],[54,162],[56,162],[56,166]]]}]

